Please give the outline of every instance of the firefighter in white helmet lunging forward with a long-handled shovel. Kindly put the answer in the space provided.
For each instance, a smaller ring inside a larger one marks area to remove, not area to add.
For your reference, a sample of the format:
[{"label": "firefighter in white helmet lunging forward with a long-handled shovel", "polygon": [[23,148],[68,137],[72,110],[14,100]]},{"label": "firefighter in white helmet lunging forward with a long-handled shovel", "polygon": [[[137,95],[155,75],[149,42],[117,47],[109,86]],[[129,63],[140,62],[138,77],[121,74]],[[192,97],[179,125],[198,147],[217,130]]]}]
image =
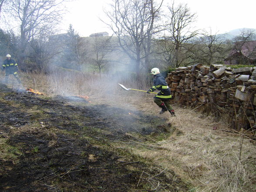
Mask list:
[{"label": "firefighter in white helmet lunging forward with a long-handled shovel", "polygon": [[169,111],[172,116],[175,116],[175,112],[172,109],[172,106],[170,104],[170,100],[172,98],[171,90],[168,87],[168,84],[165,81],[165,78],[162,76],[158,68],[153,68],[150,73],[154,75],[154,81],[153,81],[153,87],[150,88],[147,91],[147,93],[158,90],[159,92],[154,97],[154,102],[160,108],[162,108],[162,110],[159,113],[163,114],[165,111]]}]

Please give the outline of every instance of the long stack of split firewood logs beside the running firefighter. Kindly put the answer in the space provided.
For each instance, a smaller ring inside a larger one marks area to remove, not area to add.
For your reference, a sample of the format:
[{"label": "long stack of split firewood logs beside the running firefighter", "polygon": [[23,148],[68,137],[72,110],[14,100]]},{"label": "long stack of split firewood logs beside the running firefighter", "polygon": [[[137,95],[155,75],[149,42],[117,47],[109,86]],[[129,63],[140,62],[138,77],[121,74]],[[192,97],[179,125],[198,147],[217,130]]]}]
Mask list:
[{"label": "long stack of split firewood logs beside the running firefighter", "polygon": [[166,78],[173,100],[187,106],[227,111],[243,128],[256,127],[256,67],[232,69],[220,64],[176,68]]}]

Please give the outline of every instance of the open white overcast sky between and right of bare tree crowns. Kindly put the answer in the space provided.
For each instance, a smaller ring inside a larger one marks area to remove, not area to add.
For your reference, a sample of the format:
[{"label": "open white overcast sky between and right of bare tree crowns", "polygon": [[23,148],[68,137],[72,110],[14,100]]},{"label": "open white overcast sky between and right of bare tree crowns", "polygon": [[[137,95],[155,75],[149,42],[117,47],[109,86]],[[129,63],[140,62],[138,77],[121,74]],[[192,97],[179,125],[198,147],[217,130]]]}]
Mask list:
[{"label": "open white overcast sky between and right of bare tree crowns", "polygon": [[[98,32],[111,30],[102,23],[98,17],[104,20],[103,8],[108,8],[112,0],[75,0],[69,3],[70,13],[64,17],[62,32],[66,32],[69,24],[81,37],[88,37]],[[172,2],[164,0],[164,6]],[[197,14],[196,27],[209,30],[213,33],[226,33],[238,28],[256,29],[256,0],[175,0],[175,3],[186,3],[192,13]]]}]

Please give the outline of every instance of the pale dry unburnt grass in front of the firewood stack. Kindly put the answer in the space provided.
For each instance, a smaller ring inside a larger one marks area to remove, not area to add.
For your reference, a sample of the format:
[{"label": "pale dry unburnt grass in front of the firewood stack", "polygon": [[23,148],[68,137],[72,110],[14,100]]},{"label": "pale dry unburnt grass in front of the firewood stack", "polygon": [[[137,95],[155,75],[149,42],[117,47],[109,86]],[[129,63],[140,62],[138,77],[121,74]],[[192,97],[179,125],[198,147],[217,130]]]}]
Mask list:
[{"label": "pale dry unburnt grass in front of the firewood stack", "polygon": [[[148,105],[147,105],[148,106]],[[145,106],[144,106],[145,107]],[[163,114],[182,131],[158,144],[162,150],[141,150],[164,168],[189,180],[200,192],[251,192],[256,187],[255,141],[229,133],[228,121],[218,121],[190,108],[174,106],[177,117]],[[157,110],[157,111],[156,111]],[[159,108],[148,108],[157,113]],[[242,143],[243,139],[243,143]],[[241,155],[241,156],[240,156]]]}]

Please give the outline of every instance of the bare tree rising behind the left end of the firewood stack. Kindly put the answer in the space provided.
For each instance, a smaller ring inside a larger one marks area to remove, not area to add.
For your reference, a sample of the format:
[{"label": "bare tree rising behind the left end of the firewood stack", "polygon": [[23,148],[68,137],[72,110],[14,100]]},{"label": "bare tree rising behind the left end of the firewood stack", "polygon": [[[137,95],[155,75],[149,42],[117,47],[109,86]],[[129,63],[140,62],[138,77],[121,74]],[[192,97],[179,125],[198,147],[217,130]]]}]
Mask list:
[{"label": "bare tree rising behind the left end of the firewood stack", "polygon": [[[171,6],[168,6],[169,14],[167,14],[166,31],[168,36],[165,36],[166,51],[170,54],[174,54],[173,67],[179,67],[183,61],[188,59],[190,49],[192,48],[192,40],[198,34],[197,30],[192,30],[190,25],[195,22],[196,15],[191,13],[187,4],[179,4],[175,7],[174,1]],[[170,44],[172,42],[172,44]],[[171,57],[171,56],[170,56]]]}]

